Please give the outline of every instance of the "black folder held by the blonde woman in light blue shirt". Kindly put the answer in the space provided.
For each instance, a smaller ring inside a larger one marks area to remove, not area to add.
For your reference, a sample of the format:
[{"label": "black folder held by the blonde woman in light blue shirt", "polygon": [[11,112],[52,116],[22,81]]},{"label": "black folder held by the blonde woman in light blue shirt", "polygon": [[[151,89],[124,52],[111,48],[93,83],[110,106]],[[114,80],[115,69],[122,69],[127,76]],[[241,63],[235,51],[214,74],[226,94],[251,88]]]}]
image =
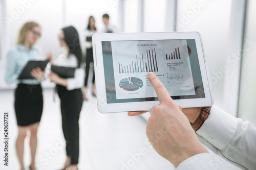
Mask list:
[{"label": "black folder held by the blonde woman in light blue shirt", "polygon": [[33,68],[40,67],[41,70],[45,70],[46,65],[50,60],[30,60],[27,65],[23,68],[22,73],[20,73],[18,79],[35,79],[30,75]]}]

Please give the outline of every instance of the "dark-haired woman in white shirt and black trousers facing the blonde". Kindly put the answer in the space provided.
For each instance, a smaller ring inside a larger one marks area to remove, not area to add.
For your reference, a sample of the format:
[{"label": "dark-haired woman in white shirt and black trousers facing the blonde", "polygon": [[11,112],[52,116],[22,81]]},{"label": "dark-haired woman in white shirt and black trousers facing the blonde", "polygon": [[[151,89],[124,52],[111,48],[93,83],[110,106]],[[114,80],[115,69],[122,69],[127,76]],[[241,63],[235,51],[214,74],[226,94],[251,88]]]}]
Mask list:
[{"label": "dark-haired woman in white shirt and black trousers facing the blonde", "polygon": [[76,68],[74,78],[61,78],[55,72],[49,74],[50,80],[57,84],[62,130],[66,139],[67,160],[62,169],[69,167],[73,170],[77,169],[79,157],[78,121],[83,103],[81,88],[84,70],[81,68],[82,52],[76,29],[72,26],[63,28],[59,34],[59,42],[62,51],[53,64]]}]

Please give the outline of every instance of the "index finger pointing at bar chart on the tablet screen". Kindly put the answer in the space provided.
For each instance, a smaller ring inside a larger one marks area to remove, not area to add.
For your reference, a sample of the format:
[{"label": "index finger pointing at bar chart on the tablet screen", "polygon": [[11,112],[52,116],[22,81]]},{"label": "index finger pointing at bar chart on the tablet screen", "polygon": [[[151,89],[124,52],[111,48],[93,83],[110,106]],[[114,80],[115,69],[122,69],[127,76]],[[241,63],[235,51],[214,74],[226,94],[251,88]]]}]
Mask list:
[{"label": "index finger pointing at bar chart on the tablet screen", "polygon": [[169,92],[153,72],[148,72],[147,78],[150,80],[152,86],[154,87],[160,103],[171,99]]}]

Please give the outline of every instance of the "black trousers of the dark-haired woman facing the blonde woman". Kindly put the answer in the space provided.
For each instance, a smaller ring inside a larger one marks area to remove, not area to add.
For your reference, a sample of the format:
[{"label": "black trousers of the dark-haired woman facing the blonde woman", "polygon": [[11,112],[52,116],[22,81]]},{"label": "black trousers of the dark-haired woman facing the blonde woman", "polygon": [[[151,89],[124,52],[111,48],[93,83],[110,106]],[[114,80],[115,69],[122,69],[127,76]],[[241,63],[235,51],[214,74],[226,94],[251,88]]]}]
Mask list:
[{"label": "black trousers of the dark-haired woman facing the blonde woman", "polygon": [[71,164],[77,164],[79,158],[79,116],[82,108],[81,89],[67,90],[57,85],[60,98],[62,116],[62,130],[66,139],[67,156],[71,157]]}]

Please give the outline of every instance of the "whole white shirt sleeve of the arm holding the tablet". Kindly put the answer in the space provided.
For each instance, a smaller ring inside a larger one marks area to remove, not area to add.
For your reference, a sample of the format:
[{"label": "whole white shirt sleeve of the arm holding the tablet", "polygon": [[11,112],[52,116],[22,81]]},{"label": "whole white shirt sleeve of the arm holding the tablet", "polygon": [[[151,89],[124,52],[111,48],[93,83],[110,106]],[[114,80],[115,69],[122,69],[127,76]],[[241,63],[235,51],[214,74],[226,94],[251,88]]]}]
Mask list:
[{"label": "whole white shirt sleeve of the arm holding the tablet", "polygon": [[256,129],[249,122],[212,106],[210,115],[197,134],[214,145],[228,160],[247,169],[256,167]]}]

